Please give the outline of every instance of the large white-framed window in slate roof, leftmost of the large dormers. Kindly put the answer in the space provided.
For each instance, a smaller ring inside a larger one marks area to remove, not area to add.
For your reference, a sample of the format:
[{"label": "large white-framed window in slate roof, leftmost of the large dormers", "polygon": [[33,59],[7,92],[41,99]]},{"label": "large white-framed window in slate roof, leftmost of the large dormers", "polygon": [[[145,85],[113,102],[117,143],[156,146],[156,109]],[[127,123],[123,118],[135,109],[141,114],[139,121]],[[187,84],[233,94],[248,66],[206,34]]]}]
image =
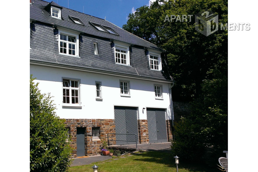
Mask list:
[{"label": "large white-framed window in slate roof, leftmost of the large dormers", "polygon": [[79,33],[58,29],[60,55],[79,57]]}]

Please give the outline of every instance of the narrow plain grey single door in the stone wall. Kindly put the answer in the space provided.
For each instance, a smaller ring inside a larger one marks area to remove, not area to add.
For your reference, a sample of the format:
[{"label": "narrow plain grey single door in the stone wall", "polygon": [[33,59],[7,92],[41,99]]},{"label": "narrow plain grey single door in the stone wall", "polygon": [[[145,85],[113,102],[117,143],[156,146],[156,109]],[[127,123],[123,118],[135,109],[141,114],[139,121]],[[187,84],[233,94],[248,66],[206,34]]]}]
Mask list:
[{"label": "narrow plain grey single door in the stone wall", "polygon": [[85,156],[85,142],[84,133],[85,128],[77,127],[76,143],[77,143],[77,157]]}]

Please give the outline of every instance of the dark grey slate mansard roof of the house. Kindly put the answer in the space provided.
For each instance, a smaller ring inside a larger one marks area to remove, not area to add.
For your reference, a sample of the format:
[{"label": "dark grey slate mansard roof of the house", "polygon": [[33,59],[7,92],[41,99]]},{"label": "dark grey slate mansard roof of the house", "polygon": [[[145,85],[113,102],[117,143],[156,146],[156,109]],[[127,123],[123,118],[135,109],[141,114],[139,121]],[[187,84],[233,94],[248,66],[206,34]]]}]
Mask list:
[{"label": "dark grey slate mansard roof of the house", "polygon": [[[62,20],[51,17],[51,5],[62,8]],[[70,19],[68,20],[68,15],[79,18],[85,26],[75,24]],[[48,3],[41,0],[32,1],[30,6],[30,19],[33,21],[31,23],[30,38],[31,62],[50,63],[57,66],[70,66],[73,68],[103,71],[105,73],[116,73],[156,80],[173,80],[165,65],[166,58],[164,53],[162,53],[162,71],[150,70],[149,57],[146,56],[144,48],[163,51],[162,49],[138,36],[130,34],[107,20],[61,7],[53,1]],[[98,31],[89,24],[89,21],[111,27],[119,34],[119,36]],[[81,33],[79,35],[80,58],[59,55],[58,30],[53,29],[53,26],[69,28]],[[111,40],[126,42],[133,45],[132,48],[130,48],[131,66],[115,64],[114,45],[112,45]],[[93,42],[98,42],[99,56],[94,55]]]}]

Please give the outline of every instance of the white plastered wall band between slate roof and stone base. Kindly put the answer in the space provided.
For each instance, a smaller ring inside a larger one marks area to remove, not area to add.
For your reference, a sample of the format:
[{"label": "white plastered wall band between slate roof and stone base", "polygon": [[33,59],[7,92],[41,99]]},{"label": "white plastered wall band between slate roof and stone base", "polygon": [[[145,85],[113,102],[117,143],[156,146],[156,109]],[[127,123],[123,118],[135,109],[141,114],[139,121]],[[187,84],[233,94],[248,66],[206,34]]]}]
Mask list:
[{"label": "white plastered wall band between slate roof and stone base", "polygon": [[[166,109],[166,119],[171,120],[169,82],[155,82],[138,78],[111,76],[101,73],[60,69],[31,64],[30,74],[39,82],[41,93],[54,96],[56,114],[64,119],[114,119],[114,106],[138,108],[138,119],[147,119],[146,108]],[[81,108],[63,107],[62,78],[80,80]],[[130,81],[130,96],[121,96],[120,80]],[[95,81],[102,83],[103,100],[96,100]],[[154,84],[162,85],[162,99],[155,98]],[[145,109],[144,109],[145,108]]]}]

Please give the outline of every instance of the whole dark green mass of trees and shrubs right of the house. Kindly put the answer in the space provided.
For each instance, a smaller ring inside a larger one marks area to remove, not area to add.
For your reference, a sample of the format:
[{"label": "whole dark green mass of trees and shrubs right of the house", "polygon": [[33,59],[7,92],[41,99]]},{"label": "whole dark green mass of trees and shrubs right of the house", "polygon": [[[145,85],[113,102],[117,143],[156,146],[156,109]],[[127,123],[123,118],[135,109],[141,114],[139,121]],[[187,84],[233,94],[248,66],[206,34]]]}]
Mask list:
[{"label": "whole dark green mass of trees and shrubs right of the house", "polygon": [[[162,2],[162,3],[160,3]],[[218,14],[218,31],[204,36],[195,30],[194,15]],[[189,101],[191,113],[175,124],[175,155],[193,160],[204,148],[227,150],[227,0],[157,0],[129,14],[123,29],[167,51],[175,79],[173,100]],[[187,22],[164,21],[166,15],[193,15]],[[217,160],[217,159],[216,159]]]}]

